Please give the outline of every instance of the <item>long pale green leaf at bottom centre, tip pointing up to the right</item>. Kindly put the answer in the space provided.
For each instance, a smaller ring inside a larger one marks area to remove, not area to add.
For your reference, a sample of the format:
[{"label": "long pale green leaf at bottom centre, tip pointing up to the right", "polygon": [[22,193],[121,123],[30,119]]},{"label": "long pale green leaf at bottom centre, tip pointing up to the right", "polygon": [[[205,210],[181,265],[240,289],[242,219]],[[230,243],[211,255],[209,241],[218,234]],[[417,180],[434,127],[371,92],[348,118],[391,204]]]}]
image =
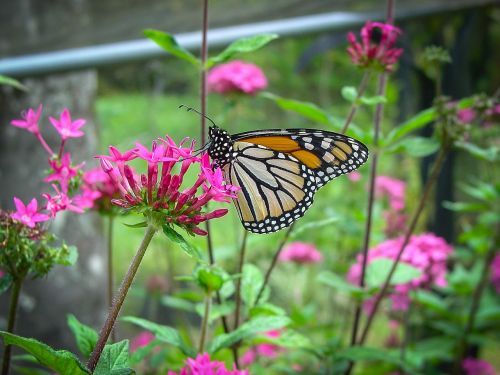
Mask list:
[{"label": "long pale green leaf at bottom centre, tip pointing up to the right", "polygon": [[240,327],[230,333],[216,336],[210,343],[208,352],[210,354],[216,353],[217,351],[223,348],[228,348],[241,340],[253,338],[258,333],[283,328],[289,323],[290,319],[285,316],[266,316],[254,318],[246,323],[243,323]]}]

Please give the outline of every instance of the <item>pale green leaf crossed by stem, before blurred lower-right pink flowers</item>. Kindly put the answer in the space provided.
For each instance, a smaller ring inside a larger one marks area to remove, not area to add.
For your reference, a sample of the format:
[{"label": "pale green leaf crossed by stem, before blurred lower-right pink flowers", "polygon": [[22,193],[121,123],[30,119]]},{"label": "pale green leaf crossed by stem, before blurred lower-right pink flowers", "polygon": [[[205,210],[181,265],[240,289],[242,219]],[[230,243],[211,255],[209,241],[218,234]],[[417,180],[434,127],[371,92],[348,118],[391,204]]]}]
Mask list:
[{"label": "pale green leaf crossed by stem, before blurred lower-right pink flowers", "polygon": [[[379,287],[385,282],[394,261],[387,258],[378,258],[366,267],[366,285]],[[422,271],[407,263],[400,262],[392,275],[391,285],[405,284],[422,275]]]}]

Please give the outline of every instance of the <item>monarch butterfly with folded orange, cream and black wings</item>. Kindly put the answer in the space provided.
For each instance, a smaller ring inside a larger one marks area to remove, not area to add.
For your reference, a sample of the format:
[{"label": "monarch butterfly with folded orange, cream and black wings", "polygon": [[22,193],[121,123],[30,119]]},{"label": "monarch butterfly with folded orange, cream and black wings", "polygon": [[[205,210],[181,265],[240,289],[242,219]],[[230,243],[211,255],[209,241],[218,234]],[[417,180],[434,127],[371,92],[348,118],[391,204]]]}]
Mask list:
[{"label": "monarch butterfly with folded orange, cream and black wings", "polygon": [[348,136],[314,129],[257,130],[230,135],[214,124],[208,154],[225,180],[244,228],[283,229],[304,215],[316,191],[368,159],[367,147]]}]

